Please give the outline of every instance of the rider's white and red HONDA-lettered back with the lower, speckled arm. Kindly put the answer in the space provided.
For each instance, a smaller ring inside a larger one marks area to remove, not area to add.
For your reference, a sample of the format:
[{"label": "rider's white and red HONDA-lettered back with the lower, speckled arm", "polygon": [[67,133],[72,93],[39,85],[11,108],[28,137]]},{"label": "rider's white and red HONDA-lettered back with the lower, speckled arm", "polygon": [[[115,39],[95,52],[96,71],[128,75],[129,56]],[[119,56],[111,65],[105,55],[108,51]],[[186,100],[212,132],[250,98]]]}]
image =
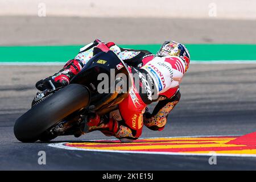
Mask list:
[{"label": "rider's white and red HONDA-lettered back with the lower, speckled arm", "polygon": [[144,125],[152,130],[163,130],[167,116],[180,100],[179,84],[185,73],[184,61],[177,56],[147,56],[143,66],[154,79],[157,88],[155,100],[159,101],[151,115],[144,118]]}]

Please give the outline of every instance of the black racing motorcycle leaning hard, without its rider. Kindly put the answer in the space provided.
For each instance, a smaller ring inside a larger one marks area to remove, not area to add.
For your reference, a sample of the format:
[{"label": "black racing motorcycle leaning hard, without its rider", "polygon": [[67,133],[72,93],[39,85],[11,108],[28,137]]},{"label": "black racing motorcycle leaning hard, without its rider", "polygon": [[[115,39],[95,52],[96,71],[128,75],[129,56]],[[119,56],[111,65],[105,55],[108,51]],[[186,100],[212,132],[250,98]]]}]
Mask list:
[{"label": "black racing motorcycle leaning hard, without its rider", "polygon": [[[106,115],[117,109],[130,90],[129,69],[104,44],[94,48],[93,55],[69,85],[55,88],[49,81],[52,88],[36,94],[31,109],[15,122],[14,134],[20,142],[48,142],[60,135],[80,137],[88,133],[86,116],[89,113]],[[97,89],[100,73],[105,73],[109,79],[108,85],[102,86],[103,93]],[[118,77],[119,73],[127,80]],[[126,92],[122,90],[123,85]]]}]

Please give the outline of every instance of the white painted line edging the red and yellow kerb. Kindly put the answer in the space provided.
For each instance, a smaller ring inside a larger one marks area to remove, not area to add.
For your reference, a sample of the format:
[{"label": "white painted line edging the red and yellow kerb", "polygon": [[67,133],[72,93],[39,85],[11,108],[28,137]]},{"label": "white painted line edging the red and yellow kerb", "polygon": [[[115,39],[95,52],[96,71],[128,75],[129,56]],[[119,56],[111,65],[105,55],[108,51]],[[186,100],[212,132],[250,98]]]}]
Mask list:
[{"label": "white painted line edging the red and yellow kerb", "polygon": [[[140,139],[156,139],[156,138],[197,138],[197,137],[235,137],[240,135],[197,135],[197,136],[184,136],[184,137],[154,137],[154,138],[140,138]],[[86,141],[104,141],[104,140],[117,140],[117,139],[93,139]],[[195,154],[195,153],[181,153],[181,152],[146,152],[146,151],[122,151],[122,150],[96,150],[96,149],[85,149],[65,146],[69,142],[51,143],[48,144],[50,147],[61,148],[65,150],[79,150],[79,151],[94,151],[94,152],[114,152],[114,153],[129,153],[129,154],[159,154],[159,155],[190,155],[190,156],[212,156],[213,154]],[[215,154],[214,154],[215,155]],[[234,156],[234,157],[256,157],[254,154],[216,154],[216,156]]]}]

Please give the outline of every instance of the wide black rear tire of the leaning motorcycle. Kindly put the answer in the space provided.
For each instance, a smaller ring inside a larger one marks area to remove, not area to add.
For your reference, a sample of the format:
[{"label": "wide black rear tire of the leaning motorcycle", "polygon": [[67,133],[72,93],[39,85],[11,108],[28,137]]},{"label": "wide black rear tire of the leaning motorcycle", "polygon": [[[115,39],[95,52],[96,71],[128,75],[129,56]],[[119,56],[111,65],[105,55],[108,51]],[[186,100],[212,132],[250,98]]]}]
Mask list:
[{"label": "wide black rear tire of the leaning motorcycle", "polygon": [[89,101],[90,93],[85,86],[65,86],[19,117],[14,125],[14,135],[20,142],[35,142],[49,127],[88,106]]}]

